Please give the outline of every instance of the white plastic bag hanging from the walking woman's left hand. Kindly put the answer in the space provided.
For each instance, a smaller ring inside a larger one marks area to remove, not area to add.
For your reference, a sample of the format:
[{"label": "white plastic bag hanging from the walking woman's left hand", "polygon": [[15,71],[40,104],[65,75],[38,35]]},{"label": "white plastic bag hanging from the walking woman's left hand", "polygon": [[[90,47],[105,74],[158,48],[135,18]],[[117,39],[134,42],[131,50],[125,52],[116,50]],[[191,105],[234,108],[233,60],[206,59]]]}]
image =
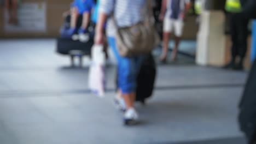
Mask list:
[{"label": "white plastic bag hanging from the walking woman's left hand", "polygon": [[88,85],[92,93],[103,97],[106,87],[105,64],[106,57],[103,52],[103,45],[92,46],[92,61],[89,69]]}]

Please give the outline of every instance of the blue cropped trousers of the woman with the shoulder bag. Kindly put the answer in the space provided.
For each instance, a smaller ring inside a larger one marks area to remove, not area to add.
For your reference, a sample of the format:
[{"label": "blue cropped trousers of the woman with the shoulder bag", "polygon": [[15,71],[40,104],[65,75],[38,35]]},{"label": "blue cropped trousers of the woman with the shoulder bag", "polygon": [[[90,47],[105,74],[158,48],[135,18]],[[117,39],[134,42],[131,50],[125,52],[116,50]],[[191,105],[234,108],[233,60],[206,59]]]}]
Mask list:
[{"label": "blue cropped trousers of the woman with the shoulder bag", "polygon": [[136,57],[122,57],[119,55],[118,47],[115,38],[109,37],[108,44],[114,52],[118,61],[118,88],[123,94],[130,94],[136,92],[137,75],[144,56]]}]

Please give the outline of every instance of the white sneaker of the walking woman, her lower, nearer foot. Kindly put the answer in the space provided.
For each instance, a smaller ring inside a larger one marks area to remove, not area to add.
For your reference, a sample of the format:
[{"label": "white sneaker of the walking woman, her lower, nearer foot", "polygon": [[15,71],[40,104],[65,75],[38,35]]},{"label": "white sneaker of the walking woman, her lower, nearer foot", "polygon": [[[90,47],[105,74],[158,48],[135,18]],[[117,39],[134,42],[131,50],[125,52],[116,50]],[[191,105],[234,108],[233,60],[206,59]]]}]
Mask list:
[{"label": "white sneaker of the walking woman, her lower, nearer foot", "polygon": [[124,114],[125,125],[135,125],[138,123],[138,113],[135,109],[128,109]]}]

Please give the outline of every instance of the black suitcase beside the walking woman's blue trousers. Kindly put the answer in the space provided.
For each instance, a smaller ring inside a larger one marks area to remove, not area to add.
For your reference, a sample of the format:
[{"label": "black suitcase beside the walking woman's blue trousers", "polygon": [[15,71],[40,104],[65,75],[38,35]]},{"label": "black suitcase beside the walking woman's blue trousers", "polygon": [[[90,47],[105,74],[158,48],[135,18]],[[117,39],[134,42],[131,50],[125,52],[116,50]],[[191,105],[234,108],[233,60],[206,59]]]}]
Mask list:
[{"label": "black suitcase beside the walking woman's blue trousers", "polygon": [[[136,101],[145,104],[146,99],[152,96],[156,78],[156,64],[152,54],[142,62],[141,70],[137,77]],[[118,86],[118,76],[116,79]]]}]

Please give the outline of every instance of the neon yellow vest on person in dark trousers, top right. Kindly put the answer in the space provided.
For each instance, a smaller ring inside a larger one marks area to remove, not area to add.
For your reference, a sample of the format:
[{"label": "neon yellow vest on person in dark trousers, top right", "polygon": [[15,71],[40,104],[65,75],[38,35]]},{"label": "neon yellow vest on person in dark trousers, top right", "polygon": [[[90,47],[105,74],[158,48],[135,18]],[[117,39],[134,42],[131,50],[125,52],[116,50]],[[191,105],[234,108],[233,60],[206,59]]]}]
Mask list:
[{"label": "neon yellow vest on person in dark trousers, top right", "polygon": [[240,13],[242,11],[240,0],[226,0],[225,9],[229,13]]}]

